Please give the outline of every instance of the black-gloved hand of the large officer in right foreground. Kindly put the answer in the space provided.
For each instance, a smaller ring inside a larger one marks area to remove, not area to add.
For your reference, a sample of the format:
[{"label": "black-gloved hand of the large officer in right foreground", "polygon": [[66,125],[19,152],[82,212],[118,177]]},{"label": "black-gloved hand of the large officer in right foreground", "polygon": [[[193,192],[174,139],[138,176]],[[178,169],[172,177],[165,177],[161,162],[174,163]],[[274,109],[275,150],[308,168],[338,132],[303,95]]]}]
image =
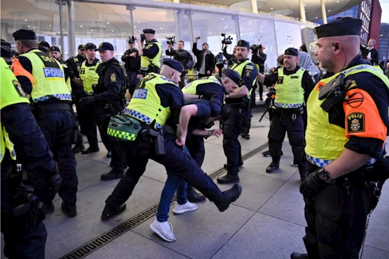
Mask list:
[{"label": "black-gloved hand of the large officer in right foreground", "polygon": [[321,168],[305,178],[300,186],[300,193],[304,197],[314,199],[326,186],[334,183],[335,180],[329,177],[327,170]]}]

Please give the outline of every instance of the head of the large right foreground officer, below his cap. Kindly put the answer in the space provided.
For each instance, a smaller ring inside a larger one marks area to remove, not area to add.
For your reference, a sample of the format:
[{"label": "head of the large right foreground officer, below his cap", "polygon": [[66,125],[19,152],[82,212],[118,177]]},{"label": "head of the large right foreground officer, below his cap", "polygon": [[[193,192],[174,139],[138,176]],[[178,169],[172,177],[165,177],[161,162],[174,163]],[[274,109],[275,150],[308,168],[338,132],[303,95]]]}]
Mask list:
[{"label": "head of the large right foreground officer, below his cap", "polygon": [[326,71],[338,73],[359,54],[361,38],[358,35],[322,37],[316,44],[315,55],[320,66]]}]

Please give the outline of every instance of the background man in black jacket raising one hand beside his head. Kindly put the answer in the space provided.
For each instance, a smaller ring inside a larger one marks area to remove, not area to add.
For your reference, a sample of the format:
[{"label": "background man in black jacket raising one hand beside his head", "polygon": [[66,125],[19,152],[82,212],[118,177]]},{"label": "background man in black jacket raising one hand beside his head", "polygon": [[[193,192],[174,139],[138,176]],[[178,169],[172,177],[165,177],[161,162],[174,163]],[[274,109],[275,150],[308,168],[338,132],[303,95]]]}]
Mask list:
[{"label": "background man in black jacket raising one hand beside his head", "polygon": [[197,62],[195,64],[194,69],[198,71],[198,78],[202,78],[205,76],[212,75],[212,72],[215,70],[215,56],[208,49],[208,43],[203,43],[203,50],[197,49],[197,41],[200,37],[195,38],[195,42],[193,43],[192,52],[195,54],[197,58]]}]

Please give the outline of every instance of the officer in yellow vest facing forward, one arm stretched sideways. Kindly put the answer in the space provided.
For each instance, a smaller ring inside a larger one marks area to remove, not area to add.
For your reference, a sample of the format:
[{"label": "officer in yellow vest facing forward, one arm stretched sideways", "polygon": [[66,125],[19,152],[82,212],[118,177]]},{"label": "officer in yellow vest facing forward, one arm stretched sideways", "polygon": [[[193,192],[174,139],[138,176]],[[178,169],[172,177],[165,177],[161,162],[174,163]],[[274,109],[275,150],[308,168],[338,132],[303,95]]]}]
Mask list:
[{"label": "officer in yellow vest facing forward, one arm stretched sideways", "polygon": [[294,163],[298,165],[301,181],[307,177],[307,165],[303,156],[304,123],[303,106],[308,94],[314,87],[315,80],[310,72],[303,70],[298,63],[298,50],[289,48],[284,54],[284,68],[277,73],[258,75],[258,80],[265,85],[275,83],[275,101],[277,107],[273,111],[273,119],[268,134],[269,151],[272,163],[266,168],[272,173],[279,168],[282,152],[282,142],[288,132],[289,143],[292,146]]}]

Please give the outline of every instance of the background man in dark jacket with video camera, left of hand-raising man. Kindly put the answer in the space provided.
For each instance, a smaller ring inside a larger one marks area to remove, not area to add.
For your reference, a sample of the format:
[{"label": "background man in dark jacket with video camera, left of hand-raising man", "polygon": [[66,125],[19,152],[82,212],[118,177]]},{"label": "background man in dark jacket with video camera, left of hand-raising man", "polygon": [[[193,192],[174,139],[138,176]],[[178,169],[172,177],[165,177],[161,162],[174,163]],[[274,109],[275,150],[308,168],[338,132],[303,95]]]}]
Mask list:
[{"label": "background man in dark jacket with video camera, left of hand-raising man", "polygon": [[192,55],[184,50],[184,42],[180,40],[177,43],[177,50],[173,49],[173,41],[168,42],[168,48],[166,49],[167,56],[173,56],[175,60],[179,61],[184,67],[184,71],[181,74],[180,89],[185,86],[185,75],[188,73],[188,69],[193,67]]}]

